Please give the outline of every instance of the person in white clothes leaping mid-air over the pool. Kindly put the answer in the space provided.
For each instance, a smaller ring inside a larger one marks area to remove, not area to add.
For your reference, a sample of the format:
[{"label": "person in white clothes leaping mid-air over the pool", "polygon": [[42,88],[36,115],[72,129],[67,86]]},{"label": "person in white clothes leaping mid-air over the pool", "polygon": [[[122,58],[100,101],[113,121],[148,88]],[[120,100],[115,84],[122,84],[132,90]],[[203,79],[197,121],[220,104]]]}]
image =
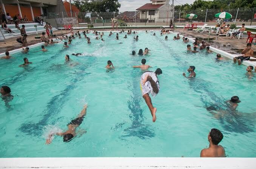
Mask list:
[{"label": "person in white clothes leaping mid-air over the pool", "polygon": [[151,115],[153,117],[152,121],[156,121],[156,107],[153,107],[151,98],[149,94],[155,97],[159,92],[159,81],[157,75],[162,74],[162,70],[157,68],[155,72],[147,71],[144,72],[140,77],[140,89],[142,91],[142,97],[150,109]]}]

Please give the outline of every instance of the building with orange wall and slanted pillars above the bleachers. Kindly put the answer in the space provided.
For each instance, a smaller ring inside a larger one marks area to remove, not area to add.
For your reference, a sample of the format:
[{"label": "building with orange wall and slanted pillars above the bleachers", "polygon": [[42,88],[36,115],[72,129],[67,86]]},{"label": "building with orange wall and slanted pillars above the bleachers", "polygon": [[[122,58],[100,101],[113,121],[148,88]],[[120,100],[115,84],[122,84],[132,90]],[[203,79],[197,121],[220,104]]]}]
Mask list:
[{"label": "building with orange wall and slanted pillars above the bleachers", "polygon": [[2,12],[11,17],[20,14],[21,17],[28,17],[29,21],[34,22],[38,16],[48,16],[50,12],[64,12],[62,0],[0,0]]}]

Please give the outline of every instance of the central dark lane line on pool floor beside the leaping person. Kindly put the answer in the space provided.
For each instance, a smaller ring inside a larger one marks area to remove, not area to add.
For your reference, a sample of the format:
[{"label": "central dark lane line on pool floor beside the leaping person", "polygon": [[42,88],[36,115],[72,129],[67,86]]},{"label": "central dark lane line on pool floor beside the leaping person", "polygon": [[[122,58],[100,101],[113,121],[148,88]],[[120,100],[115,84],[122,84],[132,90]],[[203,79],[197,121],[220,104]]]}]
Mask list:
[{"label": "central dark lane line on pool floor beside the leaping person", "polygon": [[[132,36],[133,38],[133,36]],[[132,39],[132,50],[136,49],[136,41]],[[132,60],[134,60],[134,56],[131,56]],[[139,57],[139,56],[135,56]],[[134,62],[137,65],[137,63]],[[132,77],[132,95],[130,99],[127,101],[128,108],[130,109],[131,113],[129,118],[131,119],[131,126],[124,129],[123,131],[125,134],[122,137],[138,137],[142,140],[149,139],[155,136],[154,130],[150,128],[151,125],[142,124],[144,117],[143,117],[143,109],[140,107],[140,101],[142,100],[142,95],[137,91],[140,91],[139,84],[140,81],[137,81],[137,76],[139,72],[131,70],[131,77]],[[140,75],[139,75],[140,77]]]}]

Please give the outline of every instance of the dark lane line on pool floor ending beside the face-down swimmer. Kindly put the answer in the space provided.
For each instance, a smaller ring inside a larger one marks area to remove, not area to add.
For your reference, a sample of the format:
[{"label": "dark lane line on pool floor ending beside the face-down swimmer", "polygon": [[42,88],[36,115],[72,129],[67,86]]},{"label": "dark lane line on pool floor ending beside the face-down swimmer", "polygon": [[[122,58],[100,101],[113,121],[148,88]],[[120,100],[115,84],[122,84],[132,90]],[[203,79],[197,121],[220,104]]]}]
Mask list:
[{"label": "dark lane line on pool floor ending beside the face-down swimmer", "polygon": [[84,79],[83,77],[85,77],[85,75],[90,74],[85,73],[84,71],[90,68],[97,59],[96,57],[90,57],[90,59],[91,58],[93,58],[94,60],[90,60],[89,63],[81,65],[80,68],[82,68],[80,69],[80,72],[76,74],[77,76],[69,82],[70,84],[66,86],[66,88],[61,91],[60,94],[55,95],[51,98],[51,100],[48,101],[46,109],[43,110],[43,118],[38,123],[29,122],[22,124],[19,127],[20,131],[22,131],[23,133],[27,133],[28,135],[38,136],[42,134],[43,127],[45,127],[46,125],[54,125],[52,122],[51,124],[48,123],[49,119],[58,115],[61,112],[63,106],[66,104],[66,102],[68,102],[68,100],[66,100],[66,97],[68,97],[71,91],[76,88],[76,83]]}]

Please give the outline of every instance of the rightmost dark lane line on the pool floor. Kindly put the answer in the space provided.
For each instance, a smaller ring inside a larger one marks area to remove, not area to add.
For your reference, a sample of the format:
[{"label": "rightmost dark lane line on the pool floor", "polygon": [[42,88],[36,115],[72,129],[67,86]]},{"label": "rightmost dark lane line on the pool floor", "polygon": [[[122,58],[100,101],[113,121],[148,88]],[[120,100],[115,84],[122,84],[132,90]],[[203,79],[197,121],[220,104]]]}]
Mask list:
[{"label": "rightmost dark lane line on the pool floor", "polygon": [[[159,40],[159,38],[157,37],[157,39]],[[161,42],[163,45],[165,45],[165,47],[167,48],[167,50],[170,51],[170,53],[175,53],[174,51],[170,50],[170,47],[168,47],[165,43],[163,43],[162,41],[159,40],[159,42]],[[181,62],[179,57],[174,57],[174,59],[177,61],[177,63],[179,65],[184,65],[183,62]],[[182,63],[182,64],[180,64]],[[179,66],[180,69],[180,66]],[[214,92],[211,92],[207,86],[210,86],[210,83],[201,79],[201,78],[192,78],[189,79],[188,81],[190,88],[192,88],[195,92],[200,94],[200,100],[202,101],[202,103],[205,104],[205,108],[209,107],[209,106],[214,106],[217,107],[219,110],[224,110],[224,111],[228,111],[228,107],[227,104],[225,104],[225,98],[223,97],[218,97]],[[211,101],[213,102],[208,102],[204,95],[203,95],[203,91],[208,95],[208,97],[211,98]],[[226,122],[226,124],[224,124],[224,120]],[[220,123],[223,125],[224,129],[229,131],[229,132],[236,132],[236,133],[248,133],[248,132],[252,132],[253,130],[250,127],[247,127],[247,125],[245,125],[245,122],[250,121],[250,119],[239,119],[236,118],[235,120],[230,121],[230,116],[225,116],[225,119],[219,119]],[[235,123],[234,121],[239,121],[239,123]],[[239,127],[240,126],[240,127]],[[254,127],[254,125],[252,125],[251,127]]]}]

